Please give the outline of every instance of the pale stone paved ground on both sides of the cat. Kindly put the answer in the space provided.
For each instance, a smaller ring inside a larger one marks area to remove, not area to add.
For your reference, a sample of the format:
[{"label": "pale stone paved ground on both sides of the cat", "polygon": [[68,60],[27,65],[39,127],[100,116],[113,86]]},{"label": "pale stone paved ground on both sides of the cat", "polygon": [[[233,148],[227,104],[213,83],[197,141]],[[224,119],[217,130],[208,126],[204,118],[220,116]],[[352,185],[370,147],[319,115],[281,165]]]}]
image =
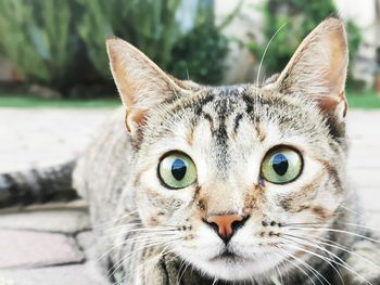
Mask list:
[{"label": "pale stone paved ground on both sides of the cat", "polygon": [[[0,109],[0,172],[54,165],[78,155],[109,109]],[[349,114],[350,173],[380,226],[380,112]],[[99,284],[88,252],[84,202],[0,216],[0,285]]]}]

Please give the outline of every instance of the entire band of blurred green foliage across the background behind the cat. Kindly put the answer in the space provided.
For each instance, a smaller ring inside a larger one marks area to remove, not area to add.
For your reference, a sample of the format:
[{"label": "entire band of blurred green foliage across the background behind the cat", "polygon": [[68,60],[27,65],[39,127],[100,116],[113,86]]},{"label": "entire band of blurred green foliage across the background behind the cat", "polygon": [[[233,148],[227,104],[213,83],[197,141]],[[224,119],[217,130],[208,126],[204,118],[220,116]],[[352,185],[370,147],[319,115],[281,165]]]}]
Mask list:
[{"label": "entire band of blurred green foliage across the background behind the cat", "polygon": [[[226,59],[231,47],[238,42],[248,49],[252,66],[257,67],[266,44],[286,24],[267,50],[263,79],[280,72],[302,39],[337,11],[333,0],[307,4],[303,0],[262,0],[258,8],[245,5],[242,11],[246,0],[240,0],[220,20],[215,16],[215,1],[1,0],[0,55],[12,63],[22,80],[11,88],[0,82],[0,98],[4,93],[22,94],[10,102],[20,102],[30,93],[46,93],[41,96],[50,99],[115,98],[104,44],[111,35],[131,42],[178,78],[205,85],[226,83]],[[259,36],[227,36],[226,28],[233,21],[251,13],[246,9],[258,10],[263,15]],[[354,23],[349,21],[346,26],[353,60],[363,38]],[[253,81],[252,78],[253,74],[248,80]],[[360,85],[351,69],[347,83],[356,93],[364,90],[357,89]],[[380,100],[378,103],[380,106]]]}]

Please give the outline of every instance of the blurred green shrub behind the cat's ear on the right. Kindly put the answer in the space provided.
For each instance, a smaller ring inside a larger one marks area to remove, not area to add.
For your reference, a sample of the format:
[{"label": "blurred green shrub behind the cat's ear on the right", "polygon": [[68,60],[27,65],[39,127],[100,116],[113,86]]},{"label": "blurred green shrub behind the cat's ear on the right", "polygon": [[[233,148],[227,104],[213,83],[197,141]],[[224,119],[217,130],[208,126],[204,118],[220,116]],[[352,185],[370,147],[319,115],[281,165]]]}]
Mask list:
[{"label": "blurred green shrub behind the cat's ear on the right", "polygon": [[[263,56],[266,43],[286,24],[265,55],[264,66],[268,75],[281,72],[302,39],[327,16],[337,12],[332,0],[309,1],[307,4],[303,0],[267,0],[261,10],[264,13],[264,44],[258,44],[256,39],[248,43],[257,62]],[[362,36],[358,27],[350,21],[346,30],[352,60],[357,53]],[[351,70],[349,82],[352,82]]]}]

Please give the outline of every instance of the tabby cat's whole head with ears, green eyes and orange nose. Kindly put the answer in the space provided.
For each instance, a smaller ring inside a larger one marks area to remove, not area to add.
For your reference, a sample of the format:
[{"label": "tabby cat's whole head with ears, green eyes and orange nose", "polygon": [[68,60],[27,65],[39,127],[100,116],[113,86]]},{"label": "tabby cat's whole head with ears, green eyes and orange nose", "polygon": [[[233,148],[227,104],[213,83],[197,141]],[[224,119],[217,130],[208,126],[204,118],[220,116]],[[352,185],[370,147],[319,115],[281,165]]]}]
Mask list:
[{"label": "tabby cat's whole head with ears, green eyes and orange nose", "polygon": [[343,23],[322,22],[262,87],[177,80],[121,39],[107,52],[136,146],[127,187],[157,241],[225,280],[307,259],[295,236],[321,235],[313,224],[331,223],[343,198]]}]

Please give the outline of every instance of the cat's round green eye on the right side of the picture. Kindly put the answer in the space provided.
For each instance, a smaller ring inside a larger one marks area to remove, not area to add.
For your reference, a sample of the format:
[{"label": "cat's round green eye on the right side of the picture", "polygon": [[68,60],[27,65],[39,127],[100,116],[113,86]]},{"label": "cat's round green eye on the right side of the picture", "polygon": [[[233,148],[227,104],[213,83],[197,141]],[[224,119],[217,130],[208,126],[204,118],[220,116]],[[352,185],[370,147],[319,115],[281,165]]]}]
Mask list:
[{"label": "cat's round green eye on the right side of the picture", "polygon": [[262,177],[275,184],[284,184],[295,180],[301,170],[301,155],[287,146],[269,151],[262,163]]}]

